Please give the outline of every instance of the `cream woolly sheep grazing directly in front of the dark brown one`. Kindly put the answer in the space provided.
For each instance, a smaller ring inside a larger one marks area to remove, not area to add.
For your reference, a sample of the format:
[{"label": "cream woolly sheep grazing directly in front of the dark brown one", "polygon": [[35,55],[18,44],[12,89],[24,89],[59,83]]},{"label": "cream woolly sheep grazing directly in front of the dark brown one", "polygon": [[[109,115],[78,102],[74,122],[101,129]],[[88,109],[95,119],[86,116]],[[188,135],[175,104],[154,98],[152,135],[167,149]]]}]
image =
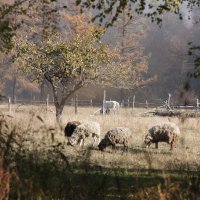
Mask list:
[{"label": "cream woolly sheep grazing directly in front of the dark brown one", "polygon": [[73,134],[69,138],[69,144],[74,146],[75,144],[82,144],[84,146],[85,138],[87,137],[93,137],[94,143],[98,140],[100,137],[100,125],[97,122],[86,122],[82,123],[81,125],[77,126],[74,130]]}]

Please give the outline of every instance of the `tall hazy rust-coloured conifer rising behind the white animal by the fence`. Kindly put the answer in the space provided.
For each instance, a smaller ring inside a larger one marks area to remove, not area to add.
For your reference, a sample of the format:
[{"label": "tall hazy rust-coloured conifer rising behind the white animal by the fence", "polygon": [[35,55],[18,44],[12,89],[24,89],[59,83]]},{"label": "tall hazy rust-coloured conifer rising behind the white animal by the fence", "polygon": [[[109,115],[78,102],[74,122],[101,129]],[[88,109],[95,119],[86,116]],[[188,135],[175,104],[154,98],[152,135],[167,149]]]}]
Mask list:
[{"label": "tall hazy rust-coloured conifer rising behind the white animal by the fence", "polygon": [[[121,101],[123,100],[123,90],[134,90],[136,88],[145,86],[153,81],[155,77],[146,78],[148,71],[149,56],[144,54],[144,47],[142,40],[144,40],[147,25],[145,20],[135,14],[131,19],[126,15],[124,10],[119,18],[114,22],[108,35],[112,35],[112,42],[120,52],[121,60],[128,66],[126,74],[126,81],[120,84]],[[116,80],[116,83],[119,81]],[[116,84],[117,86],[117,84]]]}]

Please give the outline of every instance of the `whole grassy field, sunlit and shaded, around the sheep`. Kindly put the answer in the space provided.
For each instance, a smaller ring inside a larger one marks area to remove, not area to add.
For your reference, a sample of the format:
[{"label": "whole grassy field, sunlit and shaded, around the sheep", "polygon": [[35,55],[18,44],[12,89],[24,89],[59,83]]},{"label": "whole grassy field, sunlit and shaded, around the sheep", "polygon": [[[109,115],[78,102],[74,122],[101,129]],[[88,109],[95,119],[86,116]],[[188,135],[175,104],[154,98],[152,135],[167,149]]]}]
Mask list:
[{"label": "whole grassy field, sunlit and shaded, around the sheep", "polygon": [[[4,117],[8,136],[14,133],[20,143],[2,151],[3,170],[12,169],[15,174],[9,182],[10,199],[200,199],[198,118],[142,117],[150,110],[137,108],[120,109],[117,115],[93,115],[96,110],[79,108],[75,115],[73,107],[66,107],[62,124],[57,125],[53,107],[46,112],[44,106],[14,105],[8,113],[5,105],[0,106],[0,111],[13,116]],[[124,153],[119,146],[116,152],[111,148],[100,152],[91,147],[90,139],[84,148],[68,146],[63,128],[71,120],[99,122],[102,138],[110,128],[130,128],[129,151]],[[165,143],[159,143],[159,149],[144,148],[147,129],[169,121],[181,130],[176,148],[169,151]],[[2,127],[3,123],[1,132]],[[13,156],[10,149],[17,153]],[[0,192],[2,188],[1,184]]]}]

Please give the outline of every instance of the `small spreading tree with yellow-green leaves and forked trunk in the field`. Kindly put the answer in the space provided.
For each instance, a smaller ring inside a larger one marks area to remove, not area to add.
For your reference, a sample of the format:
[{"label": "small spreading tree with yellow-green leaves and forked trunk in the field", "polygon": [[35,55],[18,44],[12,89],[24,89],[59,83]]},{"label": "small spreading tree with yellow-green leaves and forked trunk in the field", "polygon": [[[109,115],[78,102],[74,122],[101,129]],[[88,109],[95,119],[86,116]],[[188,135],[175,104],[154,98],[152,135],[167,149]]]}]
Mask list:
[{"label": "small spreading tree with yellow-green leaves and forked trunk in the field", "polygon": [[44,78],[51,84],[57,120],[70,95],[88,83],[104,79],[102,69],[111,62],[112,55],[101,43],[100,33],[94,28],[68,41],[60,36],[39,44],[27,39],[15,41],[21,70],[29,73],[32,81],[40,82]]}]

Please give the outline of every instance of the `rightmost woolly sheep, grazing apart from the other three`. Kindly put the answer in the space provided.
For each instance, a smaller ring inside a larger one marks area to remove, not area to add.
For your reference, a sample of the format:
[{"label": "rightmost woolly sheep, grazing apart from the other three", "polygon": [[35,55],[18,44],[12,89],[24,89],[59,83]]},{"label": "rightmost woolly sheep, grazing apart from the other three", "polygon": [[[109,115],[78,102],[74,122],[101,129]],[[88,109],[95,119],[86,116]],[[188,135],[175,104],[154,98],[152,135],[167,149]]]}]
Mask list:
[{"label": "rightmost woolly sheep, grazing apart from the other three", "polygon": [[170,150],[173,150],[174,143],[179,136],[179,127],[172,122],[167,122],[151,127],[144,138],[144,144],[146,148],[149,148],[152,143],[155,143],[156,148],[158,148],[158,142],[166,142],[170,144]]}]

